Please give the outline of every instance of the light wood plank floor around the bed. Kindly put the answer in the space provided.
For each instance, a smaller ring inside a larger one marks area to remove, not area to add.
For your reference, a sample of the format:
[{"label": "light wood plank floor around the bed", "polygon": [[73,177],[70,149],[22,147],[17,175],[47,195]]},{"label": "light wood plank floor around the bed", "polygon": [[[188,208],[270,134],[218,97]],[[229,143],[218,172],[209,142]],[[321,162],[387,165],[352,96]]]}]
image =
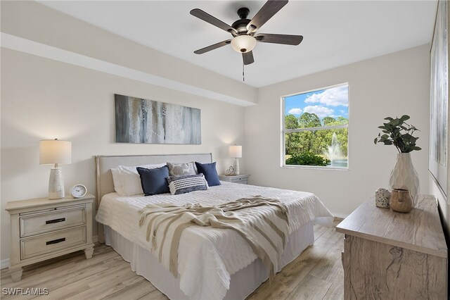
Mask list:
[{"label": "light wood plank floor around the bed", "polygon": [[[335,222],[335,225],[340,220]],[[295,261],[264,282],[248,299],[343,299],[341,251],[343,235],[335,228],[314,225],[315,242]],[[104,244],[86,260],[82,251],[25,267],[20,282],[12,282],[8,269],[1,270],[1,291],[9,287],[47,288],[45,299],[167,299],[129,263]],[[31,299],[5,296],[1,299]]]}]

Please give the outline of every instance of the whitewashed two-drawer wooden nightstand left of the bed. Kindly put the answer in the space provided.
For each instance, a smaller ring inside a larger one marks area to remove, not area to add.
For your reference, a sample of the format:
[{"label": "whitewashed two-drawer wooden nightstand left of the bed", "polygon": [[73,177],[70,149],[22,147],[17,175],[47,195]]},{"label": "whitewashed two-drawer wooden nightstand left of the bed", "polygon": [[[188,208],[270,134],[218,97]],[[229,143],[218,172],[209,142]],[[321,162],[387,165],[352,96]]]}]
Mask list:
[{"label": "whitewashed two-drawer wooden nightstand left of the bed", "polygon": [[92,257],[92,202],[89,194],[75,199],[47,198],[10,201],[10,267],[13,281],[22,278],[22,267],[49,258],[84,250]]}]

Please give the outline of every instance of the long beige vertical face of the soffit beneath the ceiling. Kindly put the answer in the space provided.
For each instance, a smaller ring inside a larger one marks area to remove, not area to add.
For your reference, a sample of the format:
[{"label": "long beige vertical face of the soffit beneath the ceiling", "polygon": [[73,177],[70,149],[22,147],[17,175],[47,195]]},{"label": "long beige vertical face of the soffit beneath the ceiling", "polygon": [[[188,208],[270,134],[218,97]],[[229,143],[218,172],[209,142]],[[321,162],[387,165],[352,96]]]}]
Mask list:
[{"label": "long beige vertical face of the soffit beneath the ceiling", "polygon": [[[1,1],[1,32],[138,70],[182,87],[252,105],[257,89],[198,65],[132,42],[35,1]],[[2,40],[2,46],[8,42]],[[184,92],[186,92],[184,90]]]}]

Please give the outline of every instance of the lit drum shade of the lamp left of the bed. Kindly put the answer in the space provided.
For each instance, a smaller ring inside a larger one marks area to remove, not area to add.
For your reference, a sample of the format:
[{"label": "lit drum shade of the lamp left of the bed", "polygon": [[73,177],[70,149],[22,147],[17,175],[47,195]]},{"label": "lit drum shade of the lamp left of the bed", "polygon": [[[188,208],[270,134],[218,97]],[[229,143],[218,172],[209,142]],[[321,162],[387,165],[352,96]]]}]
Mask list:
[{"label": "lit drum shade of the lamp left of the bed", "polygon": [[43,139],[39,142],[39,164],[72,163],[72,142]]}]

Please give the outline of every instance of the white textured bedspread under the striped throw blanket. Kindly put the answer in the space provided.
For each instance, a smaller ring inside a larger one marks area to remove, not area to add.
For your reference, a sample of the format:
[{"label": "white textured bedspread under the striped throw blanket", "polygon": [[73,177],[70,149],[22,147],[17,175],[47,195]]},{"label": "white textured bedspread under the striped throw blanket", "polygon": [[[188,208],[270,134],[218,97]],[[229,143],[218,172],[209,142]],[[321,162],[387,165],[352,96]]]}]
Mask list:
[{"label": "white textured bedspread under the striped throw blanket", "polygon": [[[147,204],[202,204],[214,206],[240,198],[261,195],[283,201],[289,209],[290,232],[314,221],[331,225],[333,215],[311,193],[271,187],[257,187],[221,182],[207,191],[188,194],[155,196],[103,196],[96,220],[110,226],[130,241],[150,249],[146,241],[146,227],[139,227],[137,212]],[[229,289],[230,275],[250,265],[257,256],[250,245],[233,230],[192,226],[184,230],[179,243],[180,289],[191,299],[223,299]],[[277,270],[279,271],[279,270]]]}]

